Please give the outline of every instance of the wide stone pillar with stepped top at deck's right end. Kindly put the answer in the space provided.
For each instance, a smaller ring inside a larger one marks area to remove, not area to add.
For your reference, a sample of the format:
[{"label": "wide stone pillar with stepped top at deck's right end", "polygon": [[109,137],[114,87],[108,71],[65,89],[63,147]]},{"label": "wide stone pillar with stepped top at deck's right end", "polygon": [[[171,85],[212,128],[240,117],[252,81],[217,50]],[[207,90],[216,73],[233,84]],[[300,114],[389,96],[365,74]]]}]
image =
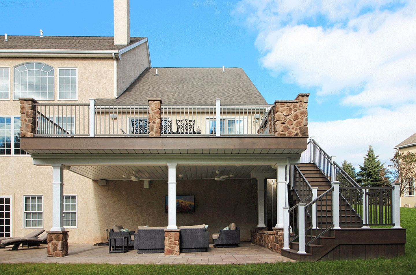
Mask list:
[{"label": "wide stone pillar with stepped top at deck's right end", "polygon": [[277,137],[307,137],[309,93],[300,93],[295,100],[275,101],[274,133]]}]

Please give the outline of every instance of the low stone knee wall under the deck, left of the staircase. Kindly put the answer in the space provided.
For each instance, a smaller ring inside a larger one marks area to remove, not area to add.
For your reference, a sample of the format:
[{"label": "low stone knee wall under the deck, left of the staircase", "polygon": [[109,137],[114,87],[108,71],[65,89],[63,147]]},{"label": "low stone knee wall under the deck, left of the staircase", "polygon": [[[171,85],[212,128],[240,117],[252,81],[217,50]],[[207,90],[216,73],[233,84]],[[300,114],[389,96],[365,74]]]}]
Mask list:
[{"label": "low stone knee wall under the deck, left of the staircase", "polygon": [[273,228],[273,231],[255,229],[251,231],[251,241],[258,246],[280,253],[283,248],[283,228]]}]

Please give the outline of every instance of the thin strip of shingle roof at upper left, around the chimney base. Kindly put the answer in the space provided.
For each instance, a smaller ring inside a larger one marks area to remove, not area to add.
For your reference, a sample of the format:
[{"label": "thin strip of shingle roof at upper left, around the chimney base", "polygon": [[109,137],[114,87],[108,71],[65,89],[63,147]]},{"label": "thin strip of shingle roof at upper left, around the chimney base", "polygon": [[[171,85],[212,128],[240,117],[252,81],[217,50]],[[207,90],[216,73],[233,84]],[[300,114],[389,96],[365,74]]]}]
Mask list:
[{"label": "thin strip of shingle roof at upper left, around the chimney base", "polygon": [[[130,37],[130,44],[146,37]],[[129,44],[129,45],[130,45]],[[0,39],[0,49],[82,49],[119,50],[128,45],[114,45],[114,37],[97,36],[15,36]]]}]

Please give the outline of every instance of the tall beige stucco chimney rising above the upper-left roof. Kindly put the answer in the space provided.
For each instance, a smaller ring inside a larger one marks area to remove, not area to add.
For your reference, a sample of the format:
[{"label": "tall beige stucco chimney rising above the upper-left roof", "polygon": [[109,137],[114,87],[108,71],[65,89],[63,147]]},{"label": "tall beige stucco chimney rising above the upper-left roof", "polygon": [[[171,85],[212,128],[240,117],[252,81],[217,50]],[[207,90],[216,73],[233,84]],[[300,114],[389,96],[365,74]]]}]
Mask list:
[{"label": "tall beige stucco chimney rising above the upper-left roof", "polygon": [[114,0],[114,45],[130,43],[130,2]]}]

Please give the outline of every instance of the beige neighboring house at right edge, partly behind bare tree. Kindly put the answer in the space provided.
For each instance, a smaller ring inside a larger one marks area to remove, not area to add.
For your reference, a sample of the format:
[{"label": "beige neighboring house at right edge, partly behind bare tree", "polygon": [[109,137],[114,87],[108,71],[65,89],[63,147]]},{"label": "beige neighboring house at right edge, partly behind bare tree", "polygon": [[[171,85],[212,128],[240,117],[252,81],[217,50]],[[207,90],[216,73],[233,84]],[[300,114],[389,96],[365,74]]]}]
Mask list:
[{"label": "beige neighboring house at right edge, partly behind bare tree", "polygon": [[[406,138],[398,145],[394,147],[394,149],[399,150],[401,153],[412,152],[416,153],[416,133],[411,135],[410,137]],[[415,196],[415,184],[416,179],[414,177],[408,177],[403,179],[404,183],[406,184],[406,188],[404,193],[400,197],[400,206],[403,207],[416,207],[416,196]]]}]

